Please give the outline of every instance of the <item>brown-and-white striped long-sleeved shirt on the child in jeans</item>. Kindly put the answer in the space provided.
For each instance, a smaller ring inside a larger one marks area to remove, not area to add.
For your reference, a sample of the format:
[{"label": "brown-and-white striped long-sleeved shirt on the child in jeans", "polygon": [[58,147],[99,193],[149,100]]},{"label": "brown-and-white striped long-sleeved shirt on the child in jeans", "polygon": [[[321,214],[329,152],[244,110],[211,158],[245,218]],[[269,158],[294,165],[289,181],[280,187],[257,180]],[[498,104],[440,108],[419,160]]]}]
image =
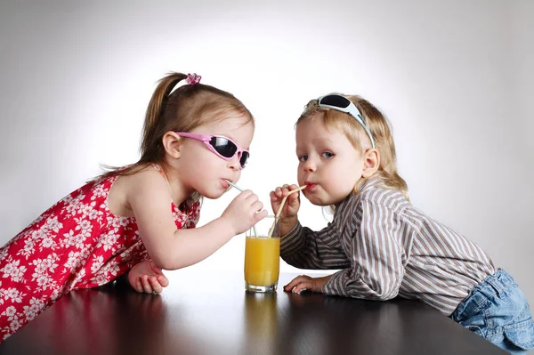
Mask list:
[{"label": "brown-and-white striped long-sleeved shirt on the child in jeans", "polygon": [[342,269],[324,294],[419,299],[449,315],[473,286],[495,273],[490,256],[423,214],[377,175],[336,208],[320,231],[297,223],[280,240],[284,261],[302,269]]}]

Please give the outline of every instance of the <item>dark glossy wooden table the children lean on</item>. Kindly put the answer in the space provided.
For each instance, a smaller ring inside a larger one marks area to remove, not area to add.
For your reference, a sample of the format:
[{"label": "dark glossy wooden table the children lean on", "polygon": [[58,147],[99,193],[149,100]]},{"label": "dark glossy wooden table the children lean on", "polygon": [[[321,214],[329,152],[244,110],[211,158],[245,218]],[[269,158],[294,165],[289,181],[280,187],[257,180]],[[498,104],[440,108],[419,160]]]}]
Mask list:
[{"label": "dark glossy wooden table the children lean on", "polygon": [[1,354],[504,354],[424,303],[282,290],[247,294],[239,273],[174,271],[161,295],[129,286],[61,298]]}]

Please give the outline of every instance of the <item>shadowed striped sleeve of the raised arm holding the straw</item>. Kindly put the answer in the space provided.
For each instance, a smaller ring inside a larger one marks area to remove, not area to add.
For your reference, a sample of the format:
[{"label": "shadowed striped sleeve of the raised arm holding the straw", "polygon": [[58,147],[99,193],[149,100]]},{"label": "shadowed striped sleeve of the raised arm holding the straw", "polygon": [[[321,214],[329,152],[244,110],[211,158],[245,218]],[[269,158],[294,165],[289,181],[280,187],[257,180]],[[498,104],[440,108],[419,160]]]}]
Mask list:
[{"label": "shadowed striped sleeve of the raised arm holding the straw", "polygon": [[300,269],[343,269],[351,265],[340,244],[333,223],[313,231],[297,222],[295,228],[280,239],[280,256]]}]

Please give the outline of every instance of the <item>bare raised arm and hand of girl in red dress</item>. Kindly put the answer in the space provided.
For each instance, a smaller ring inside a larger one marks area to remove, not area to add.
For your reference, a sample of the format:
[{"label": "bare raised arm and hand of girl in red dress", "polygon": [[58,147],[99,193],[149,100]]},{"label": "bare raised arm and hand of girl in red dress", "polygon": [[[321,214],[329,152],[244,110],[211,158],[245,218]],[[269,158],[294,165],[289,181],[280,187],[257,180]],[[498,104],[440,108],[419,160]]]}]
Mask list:
[{"label": "bare raised arm and hand of girl in red dress", "polygon": [[200,228],[177,230],[169,188],[161,175],[147,170],[132,178],[135,189],[127,193],[127,202],[150,258],[162,269],[181,269],[204,260],[267,214],[257,213],[263,204],[246,190],[234,198],[221,217]]}]

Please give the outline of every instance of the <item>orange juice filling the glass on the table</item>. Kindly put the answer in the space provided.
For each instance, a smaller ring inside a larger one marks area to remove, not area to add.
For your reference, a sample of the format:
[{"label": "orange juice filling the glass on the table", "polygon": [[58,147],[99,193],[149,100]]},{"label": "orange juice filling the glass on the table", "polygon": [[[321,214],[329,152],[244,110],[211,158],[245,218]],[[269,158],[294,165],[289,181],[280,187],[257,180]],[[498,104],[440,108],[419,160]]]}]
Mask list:
[{"label": "orange juice filling the glass on the table", "polygon": [[245,242],[245,281],[251,286],[278,284],[280,238],[247,237]]}]

